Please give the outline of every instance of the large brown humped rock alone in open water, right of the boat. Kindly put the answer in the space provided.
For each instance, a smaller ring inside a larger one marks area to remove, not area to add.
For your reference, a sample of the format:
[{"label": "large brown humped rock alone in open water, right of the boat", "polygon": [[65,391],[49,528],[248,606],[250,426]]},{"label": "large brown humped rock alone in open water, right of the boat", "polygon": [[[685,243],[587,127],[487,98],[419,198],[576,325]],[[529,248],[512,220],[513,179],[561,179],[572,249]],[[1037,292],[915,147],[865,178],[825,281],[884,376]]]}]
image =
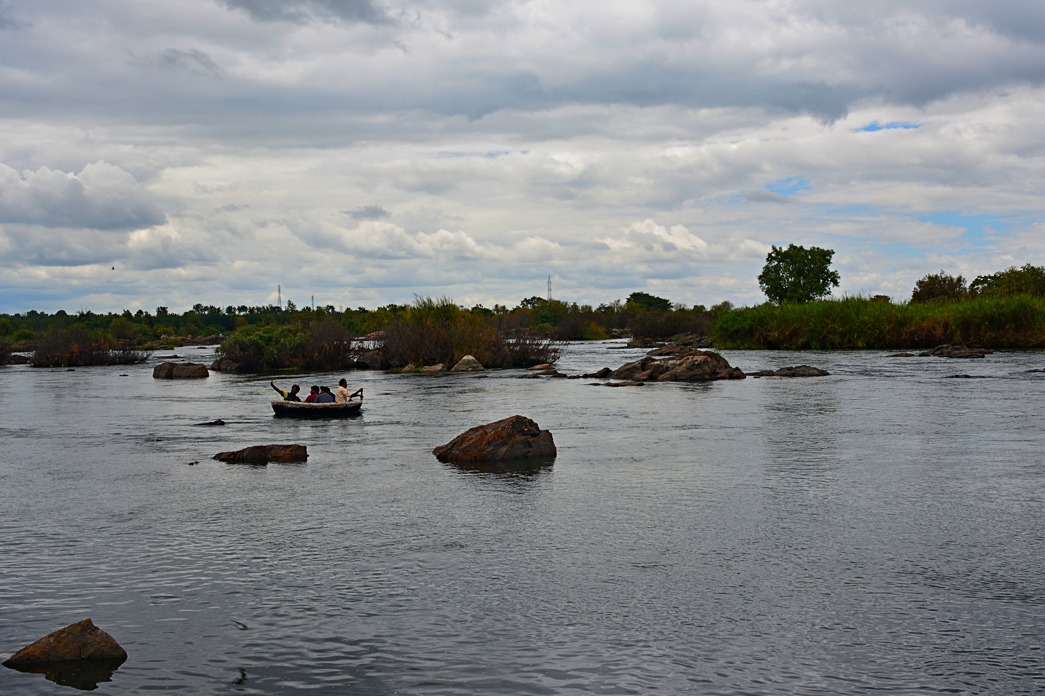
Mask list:
[{"label": "large brown humped rock alone in open water, right of the boat", "polygon": [[521,415],[477,426],[432,451],[440,461],[505,461],[556,455],[552,433]]}]

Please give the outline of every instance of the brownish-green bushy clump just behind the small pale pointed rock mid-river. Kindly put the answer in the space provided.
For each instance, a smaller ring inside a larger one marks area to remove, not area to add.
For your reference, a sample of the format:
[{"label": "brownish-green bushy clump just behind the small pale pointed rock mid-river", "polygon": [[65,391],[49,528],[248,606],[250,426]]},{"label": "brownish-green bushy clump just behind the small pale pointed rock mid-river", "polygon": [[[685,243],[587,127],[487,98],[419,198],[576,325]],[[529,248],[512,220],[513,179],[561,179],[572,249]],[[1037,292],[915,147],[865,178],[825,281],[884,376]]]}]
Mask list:
[{"label": "brownish-green bushy clump just behind the small pale pointed rock mid-river", "polygon": [[393,365],[451,366],[470,355],[486,367],[527,367],[557,360],[561,343],[526,334],[508,338],[448,297],[415,297],[385,327],[381,349]]}]

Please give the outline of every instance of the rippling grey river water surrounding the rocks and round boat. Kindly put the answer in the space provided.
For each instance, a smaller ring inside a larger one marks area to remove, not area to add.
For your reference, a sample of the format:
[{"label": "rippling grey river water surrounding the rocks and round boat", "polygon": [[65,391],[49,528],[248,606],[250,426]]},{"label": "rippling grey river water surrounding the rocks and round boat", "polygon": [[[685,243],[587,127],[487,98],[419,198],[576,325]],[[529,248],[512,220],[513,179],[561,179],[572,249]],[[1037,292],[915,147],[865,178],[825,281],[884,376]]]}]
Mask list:
[{"label": "rippling grey river water surrounding the rocks and round boat", "polygon": [[[269,377],[0,367],[0,655],[91,617],[130,654],[98,693],[1045,691],[1045,355],[723,355],[832,375],[359,371],[362,415],[301,422]],[[553,463],[431,454],[515,413]],[[307,463],[209,458],[276,442]]]}]

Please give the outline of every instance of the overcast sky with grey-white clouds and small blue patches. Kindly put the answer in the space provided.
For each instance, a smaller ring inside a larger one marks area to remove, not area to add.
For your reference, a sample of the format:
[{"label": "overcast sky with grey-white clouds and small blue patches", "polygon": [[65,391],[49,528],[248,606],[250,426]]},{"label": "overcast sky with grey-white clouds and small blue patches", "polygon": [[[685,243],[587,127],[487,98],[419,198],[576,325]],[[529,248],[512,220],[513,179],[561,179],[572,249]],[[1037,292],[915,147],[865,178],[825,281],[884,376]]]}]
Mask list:
[{"label": "overcast sky with grey-white clouds and small blue patches", "polygon": [[1045,263],[1038,0],[0,0],[0,311]]}]

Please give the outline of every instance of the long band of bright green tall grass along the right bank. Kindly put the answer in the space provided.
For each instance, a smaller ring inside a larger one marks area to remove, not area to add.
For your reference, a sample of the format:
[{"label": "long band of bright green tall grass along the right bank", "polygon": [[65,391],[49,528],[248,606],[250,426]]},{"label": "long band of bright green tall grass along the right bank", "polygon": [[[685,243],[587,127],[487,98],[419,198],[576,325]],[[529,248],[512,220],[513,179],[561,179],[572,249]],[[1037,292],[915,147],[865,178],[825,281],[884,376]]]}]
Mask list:
[{"label": "long band of bright green tall grass along the right bank", "polygon": [[862,296],[766,303],[719,316],[720,349],[1045,347],[1045,298],[977,296],[893,305]]}]

